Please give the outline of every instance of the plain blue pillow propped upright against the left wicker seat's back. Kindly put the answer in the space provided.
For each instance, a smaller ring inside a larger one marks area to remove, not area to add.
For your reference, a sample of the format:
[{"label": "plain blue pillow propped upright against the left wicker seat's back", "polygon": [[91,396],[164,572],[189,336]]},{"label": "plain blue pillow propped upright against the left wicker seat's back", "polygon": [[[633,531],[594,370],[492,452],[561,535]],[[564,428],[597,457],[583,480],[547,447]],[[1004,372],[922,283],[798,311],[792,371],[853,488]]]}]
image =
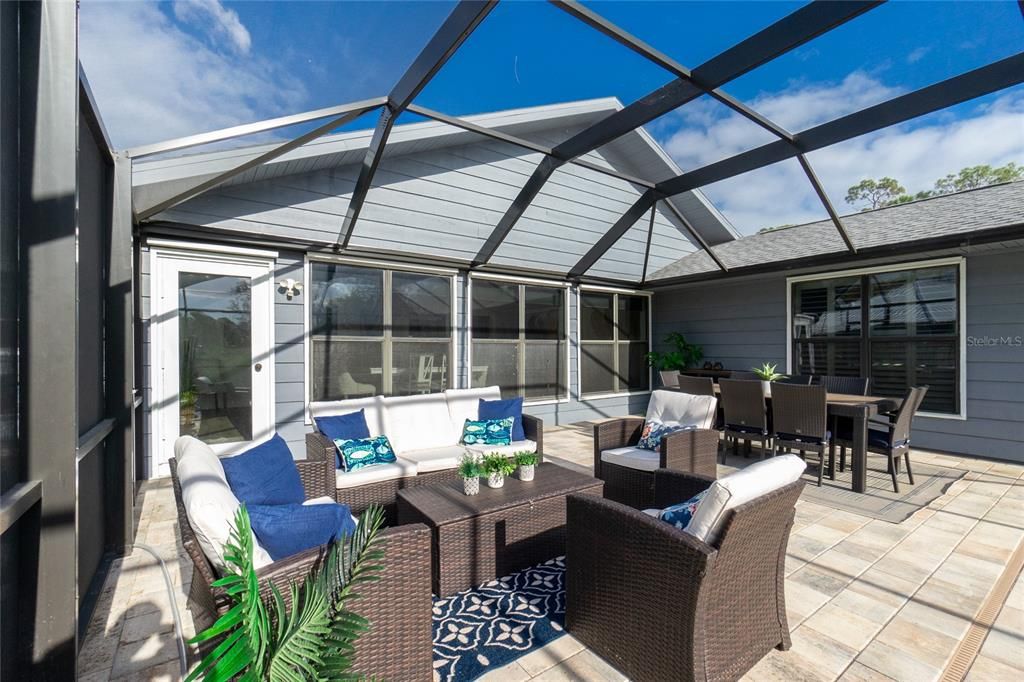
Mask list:
[{"label": "plain blue pillow propped upright against the left wicker seat's back", "polygon": [[280,434],[220,462],[231,493],[247,506],[302,504],[306,499],[292,451]]}]

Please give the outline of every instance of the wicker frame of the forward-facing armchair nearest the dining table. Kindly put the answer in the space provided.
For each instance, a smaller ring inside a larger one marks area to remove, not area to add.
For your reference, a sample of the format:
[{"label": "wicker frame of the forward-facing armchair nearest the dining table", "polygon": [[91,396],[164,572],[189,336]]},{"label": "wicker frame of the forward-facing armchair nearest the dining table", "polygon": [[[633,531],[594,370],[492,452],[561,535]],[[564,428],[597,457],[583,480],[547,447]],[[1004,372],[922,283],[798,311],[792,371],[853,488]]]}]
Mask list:
[{"label": "wicker frame of the forward-facing armchair nearest the dining table", "polygon": [[[635,509],[654,504],[654,472],[604,462],[601,452],[636,445],[643,417],[626,417],[594,425],[594,477],[604,481],[604,497]],[[718,475],[718,431],[677,431],[662,438],[658,468]]]}]

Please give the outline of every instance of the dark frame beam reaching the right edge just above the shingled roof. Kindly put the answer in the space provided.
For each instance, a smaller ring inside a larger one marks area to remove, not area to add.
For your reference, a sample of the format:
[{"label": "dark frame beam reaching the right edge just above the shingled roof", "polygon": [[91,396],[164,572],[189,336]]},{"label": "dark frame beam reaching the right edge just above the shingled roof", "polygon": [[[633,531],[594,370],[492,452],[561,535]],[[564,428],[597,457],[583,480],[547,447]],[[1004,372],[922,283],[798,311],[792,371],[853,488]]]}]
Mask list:
[{"label": "dark frame beam reaching the right edge just above the shingled roof", "polygon": [[[713,182],[735,177],[898,123],[904,123],[1020,83],[1024,83],[1024,52],[814,126],[797,133],[794,143],[779,139],[669,178],[658,182],[653,191],[660,199],[697,189]],[[645,195],[627,209],[623,218],[616,221],[597,244],[572,266],[569,270],[571,276],[580,276],[597,262],[633,226],[633,223],[636,222],[636,211],[639,210],[642,214],[649,207],[649,202],[650,199]],[[629,220],[630,216],[633,216],[632,220]],[[843,231],[845,232],[845,229]],[[711,253],[710,249],[709,253]]]}]

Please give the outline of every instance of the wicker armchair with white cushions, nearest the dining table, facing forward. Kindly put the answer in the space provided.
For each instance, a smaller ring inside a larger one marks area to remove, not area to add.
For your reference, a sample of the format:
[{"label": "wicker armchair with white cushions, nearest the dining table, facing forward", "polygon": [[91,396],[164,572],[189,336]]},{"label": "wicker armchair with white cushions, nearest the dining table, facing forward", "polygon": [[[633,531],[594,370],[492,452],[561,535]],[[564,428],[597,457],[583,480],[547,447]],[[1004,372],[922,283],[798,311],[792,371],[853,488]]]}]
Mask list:
[{"label": "wicker armchair with white cushions, nearest the dining table, facing forward", "polygon": [[[634,509],[654,506],[654,470],[674,469],[714,478],[718,468],[716,399],[678,391],[651,393],[647,416],[613,419],[594,425],[594,476],[604,481],[604,497]],[[637,447],[644,421],[680,421],[697,425],[662,439],[656,453]]]}]

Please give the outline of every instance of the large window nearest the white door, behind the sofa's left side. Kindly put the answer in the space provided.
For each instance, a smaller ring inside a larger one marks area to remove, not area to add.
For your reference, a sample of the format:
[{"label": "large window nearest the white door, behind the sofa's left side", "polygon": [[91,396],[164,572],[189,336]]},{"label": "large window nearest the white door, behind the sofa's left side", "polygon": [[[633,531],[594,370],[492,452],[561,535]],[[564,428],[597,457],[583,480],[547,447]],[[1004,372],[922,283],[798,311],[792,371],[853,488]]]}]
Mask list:
[{"label": "large window nearest the white door, behind the sofa's left side", "polygon": [[310,261],[310,399],[450,388],[452,288],[451,274]]}]

